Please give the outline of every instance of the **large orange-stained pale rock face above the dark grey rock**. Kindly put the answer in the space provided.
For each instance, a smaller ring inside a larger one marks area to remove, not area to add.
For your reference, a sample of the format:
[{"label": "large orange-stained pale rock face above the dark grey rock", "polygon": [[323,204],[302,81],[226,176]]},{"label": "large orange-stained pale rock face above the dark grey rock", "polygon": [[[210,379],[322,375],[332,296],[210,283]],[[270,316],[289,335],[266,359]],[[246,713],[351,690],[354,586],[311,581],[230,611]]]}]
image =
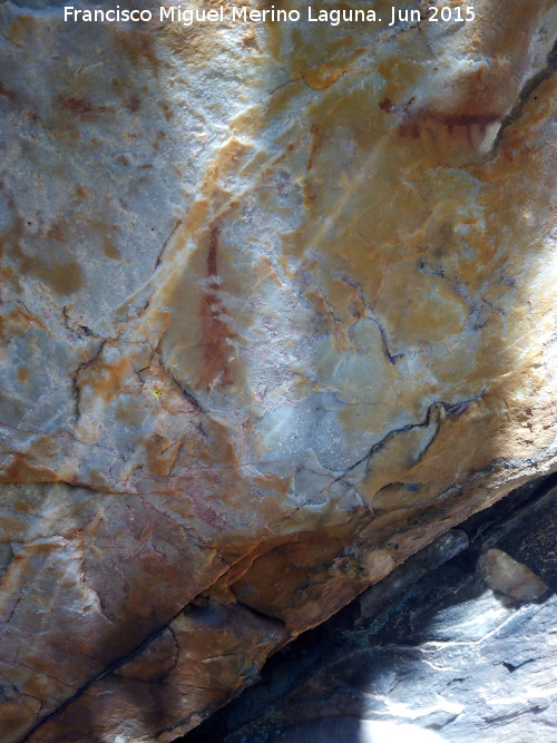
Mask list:
[{"label": "large orange-stained pale rock face above the dark grey rock", "polygon": [[370,4],[0,2],[6,743],[176,739],[556,467],[556,8]]}]

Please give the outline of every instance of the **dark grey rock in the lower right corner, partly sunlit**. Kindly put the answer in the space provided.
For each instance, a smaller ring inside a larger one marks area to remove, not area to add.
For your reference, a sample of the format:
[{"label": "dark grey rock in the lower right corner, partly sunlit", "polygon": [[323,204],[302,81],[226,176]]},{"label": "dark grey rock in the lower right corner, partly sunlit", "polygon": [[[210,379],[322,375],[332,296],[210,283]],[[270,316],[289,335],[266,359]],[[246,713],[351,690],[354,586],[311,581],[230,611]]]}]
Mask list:
[{"label": "dark grey rock in the lower right corner, partly sunlit", "polygon": [[[184,743],[553,743],[556,495],[554,478],[439,537]],[[486,575],[492,553],[514,566],[502,583]],[[535,599],[509,596],[525,573],[545,587]]]}]

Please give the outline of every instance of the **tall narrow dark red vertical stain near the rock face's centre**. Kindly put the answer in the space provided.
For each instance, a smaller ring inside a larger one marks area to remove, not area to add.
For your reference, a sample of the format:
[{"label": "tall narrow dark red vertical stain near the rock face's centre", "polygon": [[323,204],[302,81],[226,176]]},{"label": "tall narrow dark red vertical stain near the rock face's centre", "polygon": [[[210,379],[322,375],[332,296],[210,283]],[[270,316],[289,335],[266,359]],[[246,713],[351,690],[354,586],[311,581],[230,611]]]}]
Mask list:
[{"label": "tall narrow dark red vertical stain near the rock face's centre", "polygon": [[218,296],[218,227],[211,231],[207,251],[207,286],[203,291],[199,315],[203,333],[203,370],[199,380],[207,390],[215,384],[228,387],[232,384],[231,354],[232,346],[228,340],[234,333],[223,319],[223,305]]}]

